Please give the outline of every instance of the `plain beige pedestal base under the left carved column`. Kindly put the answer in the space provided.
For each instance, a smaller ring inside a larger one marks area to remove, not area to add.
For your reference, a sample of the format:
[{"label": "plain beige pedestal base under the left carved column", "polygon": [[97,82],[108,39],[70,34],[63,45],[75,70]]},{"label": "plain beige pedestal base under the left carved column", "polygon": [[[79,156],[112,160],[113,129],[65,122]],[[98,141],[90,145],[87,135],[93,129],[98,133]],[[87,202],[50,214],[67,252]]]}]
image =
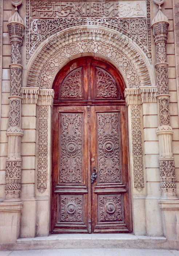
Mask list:
[{"label": "plain beige pedestal base under the left carved column", "polygon": [[22,207],[23,202],[0,202],[0,243],[13,243],[19,238]]}]

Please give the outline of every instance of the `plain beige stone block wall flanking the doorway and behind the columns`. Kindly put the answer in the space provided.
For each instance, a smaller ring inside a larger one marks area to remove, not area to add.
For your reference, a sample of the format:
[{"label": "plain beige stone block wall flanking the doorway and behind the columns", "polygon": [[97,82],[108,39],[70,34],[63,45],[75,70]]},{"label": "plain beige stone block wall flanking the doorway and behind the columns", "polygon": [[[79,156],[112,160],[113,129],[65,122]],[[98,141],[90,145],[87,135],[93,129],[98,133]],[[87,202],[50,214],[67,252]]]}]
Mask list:
[{"label": "plain beige stone block wall flanking the doorway and behind the columns", "polygon": [[[179,197],[179,117],[175,68],[175,46],[174,46],[174,21],[173,2],[166,0],[162,6],[163,13],[169,19],[169,33],[167,42],[167,59],[169,63],[168,78],[170,91],[170,114],[171,126],[174,129],[173,153],[176,167],[176,186]],[[7,136],[8,113],[9,113],[9,87],[10,87],[10,56],[11,45],[9,42],[7,22],[13,14],[11,0],[4,0],[3,5],[3,58],[2,58],[2,87],[1,87],[1,125],[0,125],[0,200],[5,197],[5,161],[7,157]],[[151,20],[157,12],[157,6],[151,1]],[[20,7],[19,14],[25,21],[25,0]],[[22,47],[23,74],[26,67],[25,37]],[[156,63],[155,44],[152,37],[152,69]],[[149,65],[151,65],[149,63]],[[23,84],[26,87],[26,84]],[[133,220],[136,234],[162,236],[163,224],[162,214],[158,200],[161,196],[160,173],[159,173],[159,145],[156,129],[158,127],[158,109],[155,100],[153,102],[140,102],[142,113],[142,136],[144,153],[144,189],[136,191],[132,188]],[[51,107],[49,106],[49,109]],[[50,111],[50,110],[49,110]],[[130,111],[129,122],[130,122]],[[49,119],[50,122],[50,119]],[[129,124],[130,127],[130,124]],[[50,123],[49,123],[50,128]],[[21,200],[24,201],[21,214],[21,237],[42,236],[48,234],[49,224],[49,193],[50,181],[48,176],[47,193],[43,195],[37,190],[37,141],[38,141],[38,106],[35,103],[22,104],[22,129],[24,135],[21,143],[22,154],[22,189]],[[50,129],[49,129],[50,131]],[[130,135],[129,135],[130,137]],[[49,145],[50,145],[49,139]],[[132,144],[130,141],[130,153],[132,154]],[[50,147],[50,146],[49,146]],[[50,157],[50,151],[49,151]],[[48,166],[50,175],[50,161]],[[131,164],[131,176],[132,164]],[[131,178],[133,181],[133,179]],[[132,184],[133,186],[133,184]],[[45,214],[44,214],[45,212]],[[30,216],[30,217],[29,217]],[[45,228],[44,228],[45,225]]]}]

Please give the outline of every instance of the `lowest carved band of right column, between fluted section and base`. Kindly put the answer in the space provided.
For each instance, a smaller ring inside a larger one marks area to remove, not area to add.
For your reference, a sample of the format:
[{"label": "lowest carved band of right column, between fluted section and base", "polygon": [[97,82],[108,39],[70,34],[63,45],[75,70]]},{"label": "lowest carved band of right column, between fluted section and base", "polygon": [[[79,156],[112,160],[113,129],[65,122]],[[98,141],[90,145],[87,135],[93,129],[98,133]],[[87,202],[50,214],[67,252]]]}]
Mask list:
[{"label": "lowest carved band of right column, between fluted section and base", "polygon": [[174,160],[162,159],[159,163],[162,191],[176,193]]}]

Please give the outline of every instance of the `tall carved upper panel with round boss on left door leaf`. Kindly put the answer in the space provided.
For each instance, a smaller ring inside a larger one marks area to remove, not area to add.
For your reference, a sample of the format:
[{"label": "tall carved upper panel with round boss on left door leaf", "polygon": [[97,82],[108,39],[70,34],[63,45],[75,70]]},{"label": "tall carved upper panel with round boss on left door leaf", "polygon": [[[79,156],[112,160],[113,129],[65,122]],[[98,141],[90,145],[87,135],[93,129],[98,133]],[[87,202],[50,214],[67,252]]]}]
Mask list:
[{"label": "tall carved upper panel with round boss on left door leaf", "polygon": [[60,182],[81,182],[82,114],[61,114]]}]

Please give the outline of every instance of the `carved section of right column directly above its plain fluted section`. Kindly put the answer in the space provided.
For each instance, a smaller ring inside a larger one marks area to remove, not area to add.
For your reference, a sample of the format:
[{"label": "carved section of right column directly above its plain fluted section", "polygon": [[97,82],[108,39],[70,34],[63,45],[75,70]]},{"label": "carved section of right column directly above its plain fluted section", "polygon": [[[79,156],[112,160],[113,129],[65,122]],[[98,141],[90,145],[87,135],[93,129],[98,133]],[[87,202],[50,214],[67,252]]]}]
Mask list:
[{"label": "carved section of right column directly above its plain fluted section", "polygon": [[170,125],[169,99],[159,99],[160,125]]}]

